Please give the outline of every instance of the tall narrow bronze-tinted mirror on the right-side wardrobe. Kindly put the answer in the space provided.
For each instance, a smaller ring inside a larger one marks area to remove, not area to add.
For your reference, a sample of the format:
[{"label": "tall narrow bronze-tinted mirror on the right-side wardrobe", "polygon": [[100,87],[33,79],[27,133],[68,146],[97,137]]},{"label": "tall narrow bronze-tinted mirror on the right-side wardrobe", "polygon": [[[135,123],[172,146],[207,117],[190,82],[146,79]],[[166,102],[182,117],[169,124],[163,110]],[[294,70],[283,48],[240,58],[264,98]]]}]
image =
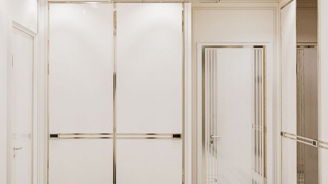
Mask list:
[{"label": "tall narrow bronze-tinted mirror on the right-side wardrobe", "polygon": [[[318,140],[317,0],[297,1],[297,135]],[[297,143],[297,183],[318,183],[318,149]]]}]

